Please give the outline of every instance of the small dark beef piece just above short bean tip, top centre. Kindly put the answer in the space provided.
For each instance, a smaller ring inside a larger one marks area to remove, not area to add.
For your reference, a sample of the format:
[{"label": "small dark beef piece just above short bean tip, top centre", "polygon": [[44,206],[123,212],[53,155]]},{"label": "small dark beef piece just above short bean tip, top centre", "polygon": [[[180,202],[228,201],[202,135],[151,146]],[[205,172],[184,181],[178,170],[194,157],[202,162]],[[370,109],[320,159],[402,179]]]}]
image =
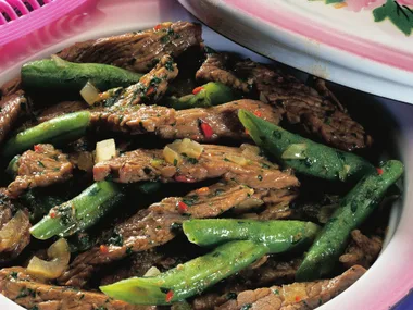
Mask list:
[{"label": "small dark beef piece just above short bean tip, top centre", "polygon": [[229,55],[226,53],[208,53],[206,60],[197,71],[196,77],[201,80],[221,82],[243,92],[250,92],[251,83],[241,80],[228,69]]}]

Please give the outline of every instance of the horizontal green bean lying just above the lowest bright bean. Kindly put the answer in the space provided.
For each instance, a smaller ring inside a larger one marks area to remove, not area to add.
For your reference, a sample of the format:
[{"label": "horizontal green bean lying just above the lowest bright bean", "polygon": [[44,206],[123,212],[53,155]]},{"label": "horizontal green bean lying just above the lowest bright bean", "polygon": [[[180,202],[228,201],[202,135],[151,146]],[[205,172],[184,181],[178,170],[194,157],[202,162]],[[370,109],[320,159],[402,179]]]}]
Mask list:
[{"label": "horizontal green bean lying just above the lowest bright bean", "polygon": [[267,246],[272,253],[310,246],[320,231],[311,222],[233,219],[189,220],[183,228],[188,240],[199,246],[248,239]]}]

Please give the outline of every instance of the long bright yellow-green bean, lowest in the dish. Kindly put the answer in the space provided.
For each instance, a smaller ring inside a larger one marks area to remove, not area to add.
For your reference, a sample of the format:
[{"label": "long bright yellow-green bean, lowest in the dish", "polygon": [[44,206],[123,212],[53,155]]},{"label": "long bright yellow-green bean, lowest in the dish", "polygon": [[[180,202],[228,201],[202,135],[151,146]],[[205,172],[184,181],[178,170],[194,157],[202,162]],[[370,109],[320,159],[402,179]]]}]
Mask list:
[{"label": "long bright yellow-green bean, lowest in the dish", "polygon": [[267,252],[267,247],[250,240],[230,241],[158,276],[132,277],[100,289],[129,303],[170,305],[202,293]]}]

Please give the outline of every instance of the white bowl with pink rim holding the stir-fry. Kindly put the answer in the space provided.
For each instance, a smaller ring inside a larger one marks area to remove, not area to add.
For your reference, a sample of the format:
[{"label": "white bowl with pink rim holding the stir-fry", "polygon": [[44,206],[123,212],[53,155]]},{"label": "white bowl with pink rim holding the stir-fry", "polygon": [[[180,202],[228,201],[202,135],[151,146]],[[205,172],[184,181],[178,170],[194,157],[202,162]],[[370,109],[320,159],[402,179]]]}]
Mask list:
[{"label": "white bowl with pink rim holding the stir-fry", "polygon": [[[0,85],[17,76],[22,63],[49,57],[75,41],[143,29],[164,21],[195,20],[172,0],[102,0],[98,10],[96,14],[86,18],[87,29],[80,34],[21,59],[3,71],[0,74]],[[80,29],[83,27],[83,25],[76,26]],[[203,27],[203,38],[209,46],[216,50],[234,51],[255,61],[268,62],[267,59],[229,41],[208,27]],[[364,95],[354,94],[354,96],[361,96],[362,100],[366,100]],[[383,107],[389,117],[397,120],[396,123],[399,128],[395,128],[393,137],[395,145],[398,146],[401,159],[405,164],[404,198],[402,202],[395,206],[390,226],[395,227],[396,231],[392,234],[390,230],[387,247],[377,261],[361,280],[337,298],[318,308],[321,310],[384,310],[398,302],[413,287],[413,268],[411,268],[411,259],[413,258],[413,225],[411,224],[413,223],[413,208],[409,207],[413,204],[413,191],[411,190],[413,175],[410,173],[413,171],[413,122],[411,121],[413,120],[413,108],[409,104],[372,96],[368,96],[367,100],[373,102],[373,108],[374,104]],[[376,137],[376,139],[378,138]],[[0,309],[17,310],[23,308],[0,295]]]}]

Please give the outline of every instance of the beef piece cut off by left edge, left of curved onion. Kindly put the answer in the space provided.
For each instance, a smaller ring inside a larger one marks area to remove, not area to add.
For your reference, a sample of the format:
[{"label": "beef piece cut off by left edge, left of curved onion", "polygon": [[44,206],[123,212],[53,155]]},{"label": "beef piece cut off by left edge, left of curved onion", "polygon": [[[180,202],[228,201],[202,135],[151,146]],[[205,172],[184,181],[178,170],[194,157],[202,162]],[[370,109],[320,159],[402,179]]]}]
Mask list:
[{"label": "beef piece cut off by left edge, left of curved onion", "polygon": [[0,190],[0,263],[18,257],[30,241],[27,210],[17,210],[5,193]]}]

